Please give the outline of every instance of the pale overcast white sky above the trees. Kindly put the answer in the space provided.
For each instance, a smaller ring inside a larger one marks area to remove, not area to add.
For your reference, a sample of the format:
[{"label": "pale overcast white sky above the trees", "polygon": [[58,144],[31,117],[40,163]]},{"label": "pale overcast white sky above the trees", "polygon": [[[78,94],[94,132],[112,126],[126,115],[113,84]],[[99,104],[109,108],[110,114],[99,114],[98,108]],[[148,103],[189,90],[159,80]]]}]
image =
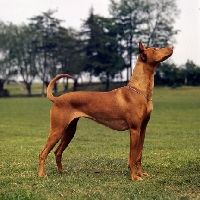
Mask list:
[{"label": "pale overcast white sky above the trees", "polygon": [[[110,0],[0,0],[0,20],[14,24],[28,23],[28,18],[49,9],[57,10],[55,17],[64,20],[63,26],[77,30],[89,16],[89,10],[108,17]],[[192,60],[200,66],[200,0],[177,0],[181,13],[174,25],[176,35],[173,62],[180,66]]]}]

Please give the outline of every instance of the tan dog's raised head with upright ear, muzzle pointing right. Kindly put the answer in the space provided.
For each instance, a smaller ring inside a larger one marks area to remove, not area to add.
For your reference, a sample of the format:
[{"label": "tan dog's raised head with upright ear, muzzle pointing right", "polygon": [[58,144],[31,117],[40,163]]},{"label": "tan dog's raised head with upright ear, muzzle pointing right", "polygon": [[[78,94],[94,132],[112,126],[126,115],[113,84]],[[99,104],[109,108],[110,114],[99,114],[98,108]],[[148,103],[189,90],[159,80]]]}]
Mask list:
[{"label": "tan dog's raised head with upright ear, muzzle pointing right", "polygon": [[173,47],[166,48],[146,48],[141,42],[139,42],[139,56],[141,61],[149,64],[158,64],[167,58],[169,58],[173,53]]}]

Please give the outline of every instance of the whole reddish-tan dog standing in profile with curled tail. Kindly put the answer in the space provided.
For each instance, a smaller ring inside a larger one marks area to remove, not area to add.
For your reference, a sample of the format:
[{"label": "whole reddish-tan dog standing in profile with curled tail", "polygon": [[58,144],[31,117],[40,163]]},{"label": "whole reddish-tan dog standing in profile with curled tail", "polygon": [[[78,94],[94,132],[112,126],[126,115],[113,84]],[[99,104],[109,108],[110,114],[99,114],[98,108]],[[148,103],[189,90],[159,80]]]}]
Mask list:
[{"label": "whole reddish-tan dog standing in profile with curled tail", "polygon": [[45,148],[39,155],[39,176],[44,177],[44,162],[56,143],[61,140],[55,151],[59,172],[65,172],[61,164],[62,153],[76,131],[80,117],[118,131],[130,130],[130,154],[128,167],[132,180],[142,180],[148,176],[142,171],[142,149],[147,123],[153,109],[152,94],[154,71],[158,64],[173,53],[173,47],[146,48],[139,43],[139,56],[133,75],[127,86],[110,92],[71,92],[60,97],[51,93],[55,82],[62,78],[72,78],[67,74],[55,77],[47,88],[47,97],[54,103],[51,108],[51,127]]}]

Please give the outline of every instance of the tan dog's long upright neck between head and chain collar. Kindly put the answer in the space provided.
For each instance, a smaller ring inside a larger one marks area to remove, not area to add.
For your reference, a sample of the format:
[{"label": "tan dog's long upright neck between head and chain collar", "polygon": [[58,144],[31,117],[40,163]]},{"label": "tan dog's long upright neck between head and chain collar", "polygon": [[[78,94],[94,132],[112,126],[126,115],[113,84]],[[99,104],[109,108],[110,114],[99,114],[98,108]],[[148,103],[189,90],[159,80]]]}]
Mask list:
[{"label": "tan dog's long upright neck between head and chain collar", "polygon": [[153,95],[154,71],[156,67],[157,65],[149,66],[149,64],[138,59],[128,85],[143,93],[148,99],[151,99]]}]

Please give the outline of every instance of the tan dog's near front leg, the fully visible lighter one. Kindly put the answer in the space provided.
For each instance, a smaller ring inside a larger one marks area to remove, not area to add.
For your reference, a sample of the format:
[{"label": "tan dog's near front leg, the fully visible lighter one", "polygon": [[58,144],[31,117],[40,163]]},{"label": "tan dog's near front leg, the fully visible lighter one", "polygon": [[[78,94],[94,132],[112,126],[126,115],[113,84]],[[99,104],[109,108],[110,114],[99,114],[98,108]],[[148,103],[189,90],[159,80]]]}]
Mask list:
[{"label": "tan dog's near front leg, the fully visible lighter one", "polygon": [[131,173],[131,180],[142,180],[140,176],[137,175],[137,158],[138,158],[138,145],[140,139],[140,130],[130,129],[130,154],[129,154],[129,167]]}]

